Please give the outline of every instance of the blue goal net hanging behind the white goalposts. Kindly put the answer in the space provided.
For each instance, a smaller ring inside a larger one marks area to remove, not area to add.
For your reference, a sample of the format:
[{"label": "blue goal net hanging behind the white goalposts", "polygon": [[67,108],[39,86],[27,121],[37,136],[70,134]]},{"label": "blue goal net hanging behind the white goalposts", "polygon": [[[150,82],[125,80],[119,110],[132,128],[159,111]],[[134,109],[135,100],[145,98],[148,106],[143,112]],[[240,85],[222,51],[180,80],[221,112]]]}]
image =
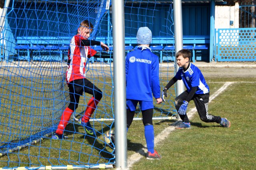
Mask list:
[{"label": "blue goal net hanging behind the white goalposts", "polygon": [[[127,0],[124,9],[126,53],[136,49],[138,28],[150,28],[164,87],[175,72],[172,2]],[[83,20],[94,26],[90,39],[104,42],[112,53],[110,0],[13,0],[2,10],[7,12],[0,33],[0,167],[113,168],[115,146],[106,140],[114,130],[112,58],[92,57],[86,63],[86,78],[103,95],[90,119],[95,133],[78,123],[91,98],[84,93],[64,129],[68,138],[52,140],[70,103],[68,49]],[[154,119],[175,115],[175,88],[168,92],[166,103],[154,103]],[[141,119],[139,107],[135,119]]]}]

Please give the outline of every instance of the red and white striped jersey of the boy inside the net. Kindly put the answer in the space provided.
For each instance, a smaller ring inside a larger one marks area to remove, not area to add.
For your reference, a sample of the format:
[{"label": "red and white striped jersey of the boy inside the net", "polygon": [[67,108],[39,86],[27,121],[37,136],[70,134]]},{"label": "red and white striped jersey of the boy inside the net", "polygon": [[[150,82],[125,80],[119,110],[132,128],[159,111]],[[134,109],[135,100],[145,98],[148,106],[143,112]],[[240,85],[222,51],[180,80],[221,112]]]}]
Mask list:
[{"label": "red and white striped jersey of the boy inside the net", "polygon": [[86,40],[80,35],[75,35],[70,41],[68,50],[68,70],[66,71],[66,81],[69,83],[76,79],[85,78],[86,61],[96,54],[94,49],[83,46],[82,40]]}]

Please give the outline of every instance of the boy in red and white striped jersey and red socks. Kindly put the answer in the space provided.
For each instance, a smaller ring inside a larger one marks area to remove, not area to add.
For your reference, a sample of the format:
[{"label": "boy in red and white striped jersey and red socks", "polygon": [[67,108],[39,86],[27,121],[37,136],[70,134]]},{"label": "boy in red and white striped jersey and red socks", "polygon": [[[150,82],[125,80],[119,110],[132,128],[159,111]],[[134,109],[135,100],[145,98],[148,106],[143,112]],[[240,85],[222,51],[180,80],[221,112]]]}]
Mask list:
[{"label": "boy in red and white striped jersey and red socks", "polygon": [[93,25],[88,20],[84,20],[77,30],[78,34],[70,41],[68,50],[68,70],[66,71],[70,104],[62,113],[60,123],[56,132],[52,135],[52,139],[57,140],[64,138],[64,128],[68,124],[72,113],[78,107],[79,98],[83,92],[89,93],[92,95],[92,98],[87,104],[84,116],[78,120],[78,123],[84,126],[88,134],[92,135],[94,133],[89,120],[102,98],[102,91],[86,79],[86,61],[92,56],[97,56],[97,52],[89,46],[100,45],[104,51],[108,51],[108,46],[99,41],[88,40],[92,30]]}]

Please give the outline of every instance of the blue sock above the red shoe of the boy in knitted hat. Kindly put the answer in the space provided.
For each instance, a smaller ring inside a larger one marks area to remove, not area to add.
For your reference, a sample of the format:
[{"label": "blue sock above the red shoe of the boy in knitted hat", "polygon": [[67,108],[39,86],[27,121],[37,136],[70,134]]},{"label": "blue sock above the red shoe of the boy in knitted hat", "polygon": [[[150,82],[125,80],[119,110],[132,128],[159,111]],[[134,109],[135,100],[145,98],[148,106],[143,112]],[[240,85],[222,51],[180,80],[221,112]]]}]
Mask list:
[{"label": "blue sock above the red shoe of the boy in knitted hat", "polygon": [[145,126],[145,138],[148,147],[148,152],[154,153],[154,127],[153,125]]}]

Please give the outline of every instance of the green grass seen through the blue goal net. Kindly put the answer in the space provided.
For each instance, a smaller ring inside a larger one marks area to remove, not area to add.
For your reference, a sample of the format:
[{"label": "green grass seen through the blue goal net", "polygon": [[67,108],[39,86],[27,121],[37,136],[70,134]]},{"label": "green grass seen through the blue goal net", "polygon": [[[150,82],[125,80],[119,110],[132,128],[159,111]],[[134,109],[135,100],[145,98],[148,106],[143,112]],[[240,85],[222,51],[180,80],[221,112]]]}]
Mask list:
[{"label": "green grass seen through the blue goal net", "polygon": [[[42,78],[42,77],[41,77]],[[60,120],[62,109],[69,102],[66,99],[66,104],[58,109],[52,110],[53,102],[56,102],[56,95],[62,95],[62,91],[56,91],[63,83],[61,80],[56,80],[51,77],[44,77],[45,81],[31,82],[30,79],[15,77],[2,77],[2,87],[0,93],[2,97],[2,115],[0,120],[0,146],[3,147],[7,142],[18,143],[20,139],[27,138],[41,131],[42,127],[52,128],[54,131]],[[90,78],[89,78],[90,79]],[[95,77],[91,81],[103,90],[102,101],[98,105],[98,110],[93,114],[94,118],[112,118],[111,93],[113,87],[109,77]],[[105,82],[105,83],[102,83]],[[52,86],[54,85],[54,86]],[[47,91],[45,91],[45,89]],[[52,88],[52,89],[51,89]],[[66,85],[64,84],[64,88]],[[59,88],[60,89],[60,88]],[[64,89],[66,91],[67,89]],[[170,89],[174,93],[174,89]],[[67,92],[63,93],[66,95]],[[14,94],[14,95],[13,95]],[[80,97],[80,104],[76,110],[78,113],[84,114],[84,109],[91,95],[83,95]],[[55,99],[55,100],[54,100]],[[65,97],[58,98],[63,100]],[[170,95],[170,99],[174,100],[174,96]],[[41,103],[50,101],[42,105]],[[58,102],[58,101],[57,101]],[[60,105],[63,103],[60,102]],[[173,103],[172,107],[174,107]],[[26,106],[26,107],[25,107]],[[155,116],[162,116],[163,112],[169,109],[169,105],[159,105],[159,110],[156,110]],[[81,115],[80,115],[81,116]],[[166,116],[166,115],[163,115]],[[79,115],[78,115],[79,117]],[[138,115],[140,117],[140,115]],[[141,122],[141,121],[140,121]],[[36,144],[31,144],[29,147],[22,148],[17,152],[10,152],[6,156],[0,157],[0,167],[19,167],[19,166],[40,166],[40,165],[90,165],[99,163],[114,162],[111,152],[113,148],[106,146],[104,143],[104,133],[110,130],[112,121],[94,121],[92,125],[98,132],[96,136],[85,135],[83,127],[77,123],[71,123],[65,128],[64,134],[68,136],[68,140],[50,140],[49,137],[44,137],[43,140]],[[112,127],[113,128],[113,127]],[[34,139],[32,139],[34,140]],[[30,142],[32,142],[32,140]],[[1,148],[4,151],[6,147]],[[12,146],[10,146],[12,148]],[[9,149],[10,149],[9,148]]]}]

